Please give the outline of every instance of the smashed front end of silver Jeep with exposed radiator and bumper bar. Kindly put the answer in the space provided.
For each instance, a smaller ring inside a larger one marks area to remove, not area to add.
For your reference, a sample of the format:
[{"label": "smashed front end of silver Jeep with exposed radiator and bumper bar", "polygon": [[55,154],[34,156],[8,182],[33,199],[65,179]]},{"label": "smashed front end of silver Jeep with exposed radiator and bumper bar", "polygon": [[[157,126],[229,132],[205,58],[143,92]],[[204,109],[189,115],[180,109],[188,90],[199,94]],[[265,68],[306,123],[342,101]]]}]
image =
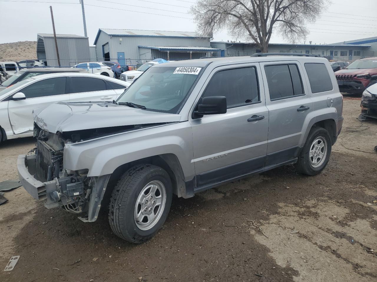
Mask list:
[{"label": "smashed front end of silver Jeep with exposed radiator and bumper bar", "polygon": [[46,208],[61,207],[81,214],[83,221],[95,221],[101,207],[110,174],[87,177],[88,170],[63,168],[64,145],[71,140],[41,130],[35,125],[37,147],[28,155],[18,156],[20,181],[31,196]]}]

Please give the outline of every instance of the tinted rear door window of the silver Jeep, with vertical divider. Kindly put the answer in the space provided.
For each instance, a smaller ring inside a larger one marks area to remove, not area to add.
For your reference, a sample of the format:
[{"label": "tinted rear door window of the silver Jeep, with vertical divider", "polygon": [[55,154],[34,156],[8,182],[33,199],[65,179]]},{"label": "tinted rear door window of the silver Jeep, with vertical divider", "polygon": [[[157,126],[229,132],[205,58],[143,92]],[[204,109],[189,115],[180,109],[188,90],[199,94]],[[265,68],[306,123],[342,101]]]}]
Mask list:
[{"label": "tinted rear door window of the silver Jeep, with vertical divider", "polygon": [[270,100],[304,94],[296,64],[265,66]]}]

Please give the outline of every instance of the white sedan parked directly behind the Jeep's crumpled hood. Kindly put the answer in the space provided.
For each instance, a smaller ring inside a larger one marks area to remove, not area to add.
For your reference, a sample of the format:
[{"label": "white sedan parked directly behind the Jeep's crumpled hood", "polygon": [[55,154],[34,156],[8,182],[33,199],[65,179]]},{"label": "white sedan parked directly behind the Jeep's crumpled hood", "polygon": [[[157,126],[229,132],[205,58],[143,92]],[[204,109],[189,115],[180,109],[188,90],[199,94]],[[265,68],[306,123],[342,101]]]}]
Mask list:
[{"label": "white sedan parked directly behind the Jeep's crumpled hood", "polygon": [[17,82],[0,91],[0,143],[33,136],[36,108],[57,102],[111,102],[130,84],[87,73],[43,74]]}]

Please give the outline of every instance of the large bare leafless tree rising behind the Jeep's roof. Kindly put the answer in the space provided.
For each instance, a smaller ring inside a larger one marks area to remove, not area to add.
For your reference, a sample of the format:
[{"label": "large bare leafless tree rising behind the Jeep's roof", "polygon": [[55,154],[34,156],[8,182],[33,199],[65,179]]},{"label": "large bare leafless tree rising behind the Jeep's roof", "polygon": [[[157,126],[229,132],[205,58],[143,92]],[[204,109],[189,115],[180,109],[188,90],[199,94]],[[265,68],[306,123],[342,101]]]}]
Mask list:
[{"label": "large bare leafless tree rising behind the Jeep's roof", "polygon": [[190,13],[201,35],[228,29],[237,38],[252,39],[267,52],[274,32],[288,42],[305,39],[305,27],[319,17],[328,0],[199,0]]}]

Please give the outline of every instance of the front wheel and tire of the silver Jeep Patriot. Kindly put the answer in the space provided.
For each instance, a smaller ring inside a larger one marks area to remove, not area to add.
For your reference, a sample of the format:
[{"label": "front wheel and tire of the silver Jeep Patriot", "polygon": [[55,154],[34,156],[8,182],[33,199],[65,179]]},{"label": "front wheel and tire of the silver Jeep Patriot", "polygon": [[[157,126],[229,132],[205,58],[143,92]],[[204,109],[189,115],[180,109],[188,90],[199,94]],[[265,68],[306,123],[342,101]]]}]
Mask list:
[{"label": "front wheel and tire of the silver Jeep Patriot", "polygon": [[[156,189],[154,194],[153,188]],[[130,243],[149,240],[164,224],[172,203],[172,194],[169,174],[161,167],[142,164],[130,168],[120,177],[112,191],[109,205],[112,231]]]}]

